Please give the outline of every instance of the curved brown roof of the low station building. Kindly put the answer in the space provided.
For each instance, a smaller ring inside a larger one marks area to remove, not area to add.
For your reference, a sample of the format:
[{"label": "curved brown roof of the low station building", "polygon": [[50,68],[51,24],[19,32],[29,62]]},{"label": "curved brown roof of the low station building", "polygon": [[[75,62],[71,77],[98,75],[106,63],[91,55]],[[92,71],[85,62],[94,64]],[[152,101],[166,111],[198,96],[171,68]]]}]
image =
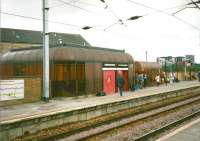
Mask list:
[{"label": "curved brown roof of the low station building", "polygon": [[[100,48],[53,47],[49,50],[51,61],[86,61],[105,63],[133,63],[133,58],[123,51]],[[6,62],[42,61],[42,49],[21,50],[5,53],[1,60]]]}]

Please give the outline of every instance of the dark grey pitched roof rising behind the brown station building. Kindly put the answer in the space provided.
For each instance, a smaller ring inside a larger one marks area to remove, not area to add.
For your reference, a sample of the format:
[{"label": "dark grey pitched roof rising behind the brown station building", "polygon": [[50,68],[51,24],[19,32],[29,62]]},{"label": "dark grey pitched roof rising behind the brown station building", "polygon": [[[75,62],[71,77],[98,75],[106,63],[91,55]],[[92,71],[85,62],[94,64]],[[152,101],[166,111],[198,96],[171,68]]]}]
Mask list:
[{"label": "dark grey pitched roof rising behind the brown station building", "polygon": [[[42,32],[32,30],[1,28],[1,42],[42,44]],[[49,33],[49,43],[52,46],[60,44],[72,44],[91,46],[79,34]]]}]

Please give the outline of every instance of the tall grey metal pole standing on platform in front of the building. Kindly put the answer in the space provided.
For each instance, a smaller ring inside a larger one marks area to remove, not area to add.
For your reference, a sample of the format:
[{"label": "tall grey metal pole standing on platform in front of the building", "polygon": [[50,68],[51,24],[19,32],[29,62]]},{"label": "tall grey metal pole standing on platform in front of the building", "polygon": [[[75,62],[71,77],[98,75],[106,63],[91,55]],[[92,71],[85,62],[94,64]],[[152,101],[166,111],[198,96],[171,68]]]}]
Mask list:
[{"label": "tall grey metal pole standing on platform in front of the building", "polygon": [[43,100],[49,101],[48,0],[43,0]]}]

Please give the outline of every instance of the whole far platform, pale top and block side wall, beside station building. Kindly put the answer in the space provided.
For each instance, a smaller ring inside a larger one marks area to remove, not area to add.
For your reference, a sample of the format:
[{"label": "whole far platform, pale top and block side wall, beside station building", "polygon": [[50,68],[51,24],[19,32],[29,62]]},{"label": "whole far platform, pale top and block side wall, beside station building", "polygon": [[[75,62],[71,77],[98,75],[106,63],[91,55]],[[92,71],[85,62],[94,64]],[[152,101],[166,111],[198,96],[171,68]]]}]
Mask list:
[{"label": "whole far platform, pale top and block side wall, beside station building", "polygon": [[101,97],[57,98],[49,102],[4,106],[0,107],[0,140],[11,140],[27,132],[35,133],[42,129],[89,120],[119,110],[199,91],[198,81],[183,81],[124,92],[123,96],[115,93]]}]

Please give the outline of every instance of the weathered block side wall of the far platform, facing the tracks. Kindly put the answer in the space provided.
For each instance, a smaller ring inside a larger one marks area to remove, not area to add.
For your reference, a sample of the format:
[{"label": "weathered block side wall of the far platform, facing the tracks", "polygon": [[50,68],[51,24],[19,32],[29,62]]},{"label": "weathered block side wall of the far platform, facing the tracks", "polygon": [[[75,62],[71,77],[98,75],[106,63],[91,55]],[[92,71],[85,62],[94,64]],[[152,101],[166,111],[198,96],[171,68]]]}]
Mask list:
[{"label": "weathered block side wall of the far platform, facing the tracks", "polygon": [[148,103],[163,101],[169,98],[175,98],[177,96],[196,96],[200,95],[199,92],[200,87],[191,87],[140,98],[129,98],[123,101],[114,101],[113,103],[77,108],[73,111],[66,110],[60,113],[51,113],[29,117],[26,119],[15,119],[9,122],[1,122],[0,140],[7,141],[18,136],[22,136],[27,132],[35,133],[42,129],[47,129],[50,127],[55,127],[76,121],[89,120],[97,116],[118,112],[128,108],[134,108],[137,106],[148,105]]}]

